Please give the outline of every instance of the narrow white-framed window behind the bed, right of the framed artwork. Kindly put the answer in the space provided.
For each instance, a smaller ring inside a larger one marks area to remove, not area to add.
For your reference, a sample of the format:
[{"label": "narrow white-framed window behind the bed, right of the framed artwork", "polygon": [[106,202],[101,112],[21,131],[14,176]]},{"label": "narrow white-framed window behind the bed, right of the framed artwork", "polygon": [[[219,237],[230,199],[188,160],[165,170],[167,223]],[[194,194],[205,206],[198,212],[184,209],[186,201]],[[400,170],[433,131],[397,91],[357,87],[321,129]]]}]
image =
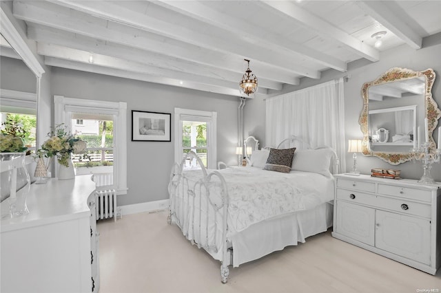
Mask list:
[{"label": "narrow white-framed window behind the bed, right of the framed artwork", "polygon": [[[216,119],[216,112],[174,109],[176,162],[181,163],[189,151],[194,151],[206,168],[216,169]],[[198,167],[189,161],[185,166]]]}]

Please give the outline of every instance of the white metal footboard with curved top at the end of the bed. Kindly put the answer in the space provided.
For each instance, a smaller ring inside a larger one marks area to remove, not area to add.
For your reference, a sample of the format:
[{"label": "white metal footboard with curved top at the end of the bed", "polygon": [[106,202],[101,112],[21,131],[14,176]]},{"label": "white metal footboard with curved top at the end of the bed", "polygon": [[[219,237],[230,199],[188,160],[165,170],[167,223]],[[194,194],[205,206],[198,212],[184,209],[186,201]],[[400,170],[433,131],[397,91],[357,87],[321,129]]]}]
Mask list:
[{"label": "white metal footboard with curved top at the end of the bed", "polygon": [[[189,180],[183,172],[186,160],[196,160],[201,166],[201,176],[196,182]],[[174,219],[183,235],[198,248],[207,250],[209,254],[217,254],[219,249],[222,250],[220,276],[222,283],[227,283],[231,254],[227,243],[229,197],[225,179],[218,171],[208,174],[201,159],[190,151],[181,164],[174,164],[168,191],[168,224],[172,224]]]}]

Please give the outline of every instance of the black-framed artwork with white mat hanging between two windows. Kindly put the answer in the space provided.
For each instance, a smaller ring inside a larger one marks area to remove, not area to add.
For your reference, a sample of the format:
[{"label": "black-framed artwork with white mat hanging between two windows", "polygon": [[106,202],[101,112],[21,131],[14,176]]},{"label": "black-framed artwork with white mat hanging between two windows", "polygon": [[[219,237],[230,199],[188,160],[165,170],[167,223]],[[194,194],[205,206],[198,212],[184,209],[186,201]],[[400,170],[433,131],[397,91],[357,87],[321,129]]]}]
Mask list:
[{"label": "black-framed artwork with white mat hanging between two windows", "polygon": [[172,114],[132,110],[132,142],[171,142]]}]

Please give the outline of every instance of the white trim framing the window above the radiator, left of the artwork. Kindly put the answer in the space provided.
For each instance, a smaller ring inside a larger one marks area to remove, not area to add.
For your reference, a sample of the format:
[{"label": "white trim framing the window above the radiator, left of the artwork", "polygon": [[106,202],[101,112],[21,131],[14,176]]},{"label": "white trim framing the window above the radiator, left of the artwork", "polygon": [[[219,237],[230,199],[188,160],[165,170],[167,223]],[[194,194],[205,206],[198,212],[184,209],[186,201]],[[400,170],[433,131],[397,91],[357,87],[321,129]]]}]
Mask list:
[{"label": "white trim framing the window above the radiator, left of the artwork", "polygon": [[[54,96],[54,123],[64,123],[72,127],[72,110],[101,111],[114,116],[114,186],[118,194],[127,193],[127,102],[108,102],[105,100],[86,100]],[[116,164],[115,164],[116,162]],[[56,162],[58,164],[58,162]],[[115,168],[116,166],[116,168]],[[56,174],[58,168],[55,169]]]}]

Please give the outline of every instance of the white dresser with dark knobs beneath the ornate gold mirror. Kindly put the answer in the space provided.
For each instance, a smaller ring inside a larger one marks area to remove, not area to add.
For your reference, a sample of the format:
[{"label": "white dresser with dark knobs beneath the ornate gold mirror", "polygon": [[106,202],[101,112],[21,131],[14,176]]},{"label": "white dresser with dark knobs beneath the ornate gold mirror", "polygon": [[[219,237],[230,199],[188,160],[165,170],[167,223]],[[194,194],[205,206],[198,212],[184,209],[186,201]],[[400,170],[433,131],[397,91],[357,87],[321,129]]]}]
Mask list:
[{"label": "white dresser with dark knobs beneath the ornate gold mirror", "polygon": [[435,274],[441,265],[441,186],[335,177],[332,236]]}]

